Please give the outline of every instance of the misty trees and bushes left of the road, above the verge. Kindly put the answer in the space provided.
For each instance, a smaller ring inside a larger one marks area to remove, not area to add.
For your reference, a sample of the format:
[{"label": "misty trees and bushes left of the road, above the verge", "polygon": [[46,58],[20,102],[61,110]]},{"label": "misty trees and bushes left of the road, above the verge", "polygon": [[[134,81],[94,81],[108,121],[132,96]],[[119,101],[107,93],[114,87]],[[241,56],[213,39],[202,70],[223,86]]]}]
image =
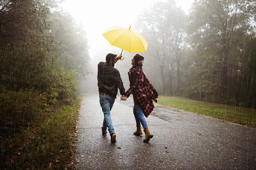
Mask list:
[{"label": "misty trees and bushes left of the road, above the verge", "polygon": [[0,4],[2,121],[36,111],[29,103],[39,109],[72,103],[77,82],[88,74],[86,32],[69,14],[57,10],[58,3],[10,0]]}]

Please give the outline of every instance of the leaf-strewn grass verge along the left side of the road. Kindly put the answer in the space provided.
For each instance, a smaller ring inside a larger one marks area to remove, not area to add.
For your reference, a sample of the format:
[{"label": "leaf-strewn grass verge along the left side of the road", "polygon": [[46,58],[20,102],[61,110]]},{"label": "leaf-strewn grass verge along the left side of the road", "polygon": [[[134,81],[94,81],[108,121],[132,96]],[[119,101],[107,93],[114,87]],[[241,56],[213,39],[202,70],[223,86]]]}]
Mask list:
[{"label": "leaf-strewn grass verge along the left side of the road", "polygon": [[14,135],[0,136],[0,169],[71,169],[80,100],[44,112],[28,126],[12,127]]}]

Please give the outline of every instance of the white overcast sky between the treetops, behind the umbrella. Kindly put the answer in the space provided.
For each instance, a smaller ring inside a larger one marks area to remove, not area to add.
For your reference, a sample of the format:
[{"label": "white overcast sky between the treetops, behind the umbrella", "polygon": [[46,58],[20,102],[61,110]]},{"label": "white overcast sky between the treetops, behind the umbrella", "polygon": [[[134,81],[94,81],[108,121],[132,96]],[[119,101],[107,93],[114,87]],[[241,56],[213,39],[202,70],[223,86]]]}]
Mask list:
[{"label": "white overcast sky between the treetops, behind the umbrella", "polygon": [[[90,46],[89,54],[94,58],[99,50],[106,50],[106,53],[121,53],[119,48],[111,47],[102,36],[104,31],[113,26],[132,28],[141,11],[149,9],[158,1],[161,0],[66,0],[63,8],[77,22],[83,24]],[[188,14],[192,2],[193,0],[177,0],[176,6],[181,6]]]}]

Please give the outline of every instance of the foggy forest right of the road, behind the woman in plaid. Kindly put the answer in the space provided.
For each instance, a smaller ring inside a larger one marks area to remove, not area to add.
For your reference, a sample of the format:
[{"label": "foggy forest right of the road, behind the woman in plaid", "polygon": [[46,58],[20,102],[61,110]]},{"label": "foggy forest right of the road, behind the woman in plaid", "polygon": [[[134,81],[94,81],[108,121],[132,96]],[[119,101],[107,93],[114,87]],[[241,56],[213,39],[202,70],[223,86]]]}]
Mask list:
[{"label": "foggy forest right of the road, behind the woman in plaid", "polygon": [[158,2],[137,19],[158,93],[255,108],[256,2],[196,0],[186,15]]}]

